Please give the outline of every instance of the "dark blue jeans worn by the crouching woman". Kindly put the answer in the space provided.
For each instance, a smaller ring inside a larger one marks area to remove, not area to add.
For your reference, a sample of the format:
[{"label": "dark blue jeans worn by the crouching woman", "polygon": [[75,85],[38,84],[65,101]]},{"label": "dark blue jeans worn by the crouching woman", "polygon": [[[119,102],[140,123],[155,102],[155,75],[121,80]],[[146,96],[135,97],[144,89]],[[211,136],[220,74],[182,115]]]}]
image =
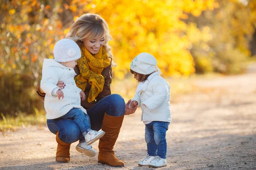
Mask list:
[{"label": "dark blue jeans worn by the crouching woman", "polygon": [[[92,108],[87,109],[90,117],[91,129],[99,131],[102,126],[104,114],[109,116],[123,116],[125,113],[125,101],[119,94],[111,94],[97,102]],[[114,122],[113,122],[114,123]],[[73,119],[48,119],[49,130],[56,134],[59,131],[59,139],[65,143],[73,143],[81,139],[82,134]]]}]

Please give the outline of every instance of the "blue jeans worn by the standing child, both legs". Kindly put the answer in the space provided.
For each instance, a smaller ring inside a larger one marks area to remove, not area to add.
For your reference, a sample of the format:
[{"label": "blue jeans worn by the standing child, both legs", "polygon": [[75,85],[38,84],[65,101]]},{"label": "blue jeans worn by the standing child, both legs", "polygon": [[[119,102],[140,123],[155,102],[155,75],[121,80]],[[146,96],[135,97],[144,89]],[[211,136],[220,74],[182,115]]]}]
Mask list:
[{"label": "blue jeans worn by the standing child, both legs", "polygon": [[145,141],[149,156],[160,156],[166,159],[166,131],[169,124],[169,122],[153,121],[145,125]]}]

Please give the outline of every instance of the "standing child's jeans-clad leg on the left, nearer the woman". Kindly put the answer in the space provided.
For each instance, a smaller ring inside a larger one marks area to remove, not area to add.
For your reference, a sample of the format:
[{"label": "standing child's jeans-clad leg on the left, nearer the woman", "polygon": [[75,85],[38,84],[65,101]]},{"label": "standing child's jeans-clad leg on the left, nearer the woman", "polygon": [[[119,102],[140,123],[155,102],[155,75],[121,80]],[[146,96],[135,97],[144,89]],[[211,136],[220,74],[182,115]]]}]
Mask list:
[{"label": "standing child's jeans-clad leg on the left, nearer the woman", "polygon": [[157,156],[157,144],[154,141],[152,122],[145,125],[145,141],[147,143],[148,155]]}]

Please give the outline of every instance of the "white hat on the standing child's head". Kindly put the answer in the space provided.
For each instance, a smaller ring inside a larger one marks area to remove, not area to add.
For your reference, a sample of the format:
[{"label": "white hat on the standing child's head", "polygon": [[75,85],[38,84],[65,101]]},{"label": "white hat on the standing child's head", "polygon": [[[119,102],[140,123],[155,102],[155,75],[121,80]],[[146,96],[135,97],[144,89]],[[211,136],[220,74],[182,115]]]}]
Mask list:
[{"label": "white hat on the standing child's head", "polygon": [[151,74],[157,71],[157,60],[148,53],[140,53],[131,62],[131,70],[140,74]]}]

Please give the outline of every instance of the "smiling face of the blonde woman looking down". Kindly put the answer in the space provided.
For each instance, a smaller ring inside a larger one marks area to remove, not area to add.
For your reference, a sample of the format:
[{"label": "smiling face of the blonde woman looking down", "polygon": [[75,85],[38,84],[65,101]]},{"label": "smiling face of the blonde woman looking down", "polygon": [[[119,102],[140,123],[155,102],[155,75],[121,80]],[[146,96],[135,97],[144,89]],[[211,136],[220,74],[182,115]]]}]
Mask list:
[{"label": "smiling face of the blonde woman looking down", "polygon": [[84,39],[84,46],[90,52],[90,54],[97,54],[99,52],[99,48],[102,47],[105,43],[105,34],[101,37],[97,37],[95,39]]}]

